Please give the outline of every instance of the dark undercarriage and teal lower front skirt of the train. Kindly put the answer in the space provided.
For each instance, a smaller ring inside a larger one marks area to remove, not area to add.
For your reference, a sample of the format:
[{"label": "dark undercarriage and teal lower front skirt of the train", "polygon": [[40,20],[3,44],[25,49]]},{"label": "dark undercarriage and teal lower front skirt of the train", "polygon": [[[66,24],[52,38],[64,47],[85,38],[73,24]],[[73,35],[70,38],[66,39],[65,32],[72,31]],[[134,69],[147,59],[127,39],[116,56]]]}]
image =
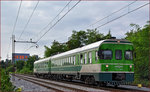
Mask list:
[{"label": "dark undercarriage and teal lower front skirt of the train", "polygon": [[36,77],[39,78],[47,78],[52,80],[66,80],[66,81],[73,81],[73,80],[80,80],[81,82],[84,82],[88,85],[98,85],[98,86],[107,86],[108,84],[114,85],[115,87],[121,85],[121,84],[129,84],[133,81],[134,74],[129,73],[111,73],[109,78],[104,77],[105,79],[102,80],[102,78],[97,81],[96,77],[94,75],[68,75],[68,74],[47,74],[47,73],[35,73]]}]

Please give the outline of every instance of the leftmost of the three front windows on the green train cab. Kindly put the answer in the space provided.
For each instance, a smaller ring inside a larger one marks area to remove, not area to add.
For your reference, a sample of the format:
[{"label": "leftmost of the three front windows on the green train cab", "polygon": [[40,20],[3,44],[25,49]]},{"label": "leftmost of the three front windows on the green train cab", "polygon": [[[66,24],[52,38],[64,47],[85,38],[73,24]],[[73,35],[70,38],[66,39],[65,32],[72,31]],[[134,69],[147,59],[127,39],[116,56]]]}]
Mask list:
[{"label": "leftmost of the three front windows on the green train cab", "polygon": [[99,57],[100,57],[100,59],[112,59],[112,51],[111,50],[100,50]]}]

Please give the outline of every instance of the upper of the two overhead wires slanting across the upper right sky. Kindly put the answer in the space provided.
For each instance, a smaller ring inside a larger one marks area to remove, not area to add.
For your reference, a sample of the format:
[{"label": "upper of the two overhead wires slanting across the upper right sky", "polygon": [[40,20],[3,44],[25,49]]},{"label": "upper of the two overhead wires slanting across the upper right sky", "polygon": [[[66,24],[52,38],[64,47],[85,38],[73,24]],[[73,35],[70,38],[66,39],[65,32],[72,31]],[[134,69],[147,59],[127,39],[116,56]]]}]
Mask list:
[{"label": "upper of the two overhead wires slanting across the upper right sky", "polygon": [[117,10],[117,11],[115,11],[115,12],[113,12],[113,13],[107,15],[106,17],[104,17],[104,18],[102,18],[102,19],[100,19],[100,20],[98,20],[98,21],[96,21],[96,22],[94,22],[94,23],[88,25],[86,28],[88,28],[88,27],[90,27],[90,26],[93,26],[93,25],[97,24],[98,22],[100,22],[100,21],[102,21],[102,20],[104,20],[104,19],[106,19],[106,18],[109,18],[109,17],[112,16],[113,14],[118,13],[118,12],[120,12],[121,10],[123,10],[123,9],[129,7],[130,5],[134,4],[136,1],[137,1],[137,0],[131,2],[130,4],[128,4],[128,5],[126,5],[126,6],[122,7],[122,8],[120,8],[119,10]]}]

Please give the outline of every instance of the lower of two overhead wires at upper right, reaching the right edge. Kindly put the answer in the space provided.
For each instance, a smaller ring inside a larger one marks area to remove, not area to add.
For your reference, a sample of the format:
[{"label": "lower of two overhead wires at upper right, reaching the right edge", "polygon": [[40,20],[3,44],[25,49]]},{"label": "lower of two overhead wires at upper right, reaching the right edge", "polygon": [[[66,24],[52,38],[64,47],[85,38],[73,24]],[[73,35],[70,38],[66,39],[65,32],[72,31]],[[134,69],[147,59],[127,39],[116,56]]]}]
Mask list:
[{"label": "lower of two overhead wires at upper right, reaching the right edge", "polygon": [[128,15],[129,13],[132,13],[132,12],[134,12],[134,11],[136,11],[136,10],[138,10],[138,9],[140,9],[140,8],[142,8],[142,7],[146,6],[146,5],[148,5],[148,4],[150,4],[150,3],[146,3],[146,4],[140,6],[140,7],[136,8],[136,9],[133,9],[133,10],[131,10],[131,11],[128,11],[127,13],[125,13],[125,14],[123,14],[123,15],[121,15],[121,16],[115,18],[115,19],[112,19],[112,20],[110,20],[110,21],[108,21],[108,22],[106,22],[106,23],[104,23],[104,24],[102,24],[102,25],[96,27],[96,29],[97,29],[97,28],[100,28],[100,27],[102,27],[102,26],[104,26],[104,25],[106,25],[106,24],[109,24],[109,23],[111,23],[111,22],[113,22],[113,21],[115,21],[115,20],[117,20],[117,19],[119,19],[119,18],[121,18],[121,17],[123,17],[123,16],[125,16],[125,15]]}]

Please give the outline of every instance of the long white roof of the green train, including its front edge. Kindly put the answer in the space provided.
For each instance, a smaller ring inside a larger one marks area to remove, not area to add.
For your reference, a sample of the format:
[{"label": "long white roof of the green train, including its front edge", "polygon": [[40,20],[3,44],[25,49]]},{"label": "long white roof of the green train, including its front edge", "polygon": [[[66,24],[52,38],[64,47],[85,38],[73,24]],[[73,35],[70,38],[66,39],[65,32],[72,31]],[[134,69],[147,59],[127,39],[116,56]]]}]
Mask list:
[{"label": "long white roof of the green train, including its front edge", "polygon": [[98,42],[95,42],[95,43],[91,43],[89,45],[79,47],[79,48],[76,48],[76,49],[73,49],[73,50],[69,50],[69,51],[66,51],[66,52],[63,52],[63,53],[45,58],[45,59],[38,60],[35,63],[43,62],[43,61],[47,61],[49,59],[55,59],[55,58],[59,58],[59,57],[63,57],[63,56],[69,56],[69,55],[74,54],[74,53],[80,53],[80,52],[83,52],[83,51],[94,49],[94,48],[99,47],[102,43],[116,43],[118,41],[121,42],[121,43],[125,43],[125,44],[131,44],[131,42],[129,42],[125,39],[106,39],[106,40],[101,40],[101,41],[98,41]]}]

